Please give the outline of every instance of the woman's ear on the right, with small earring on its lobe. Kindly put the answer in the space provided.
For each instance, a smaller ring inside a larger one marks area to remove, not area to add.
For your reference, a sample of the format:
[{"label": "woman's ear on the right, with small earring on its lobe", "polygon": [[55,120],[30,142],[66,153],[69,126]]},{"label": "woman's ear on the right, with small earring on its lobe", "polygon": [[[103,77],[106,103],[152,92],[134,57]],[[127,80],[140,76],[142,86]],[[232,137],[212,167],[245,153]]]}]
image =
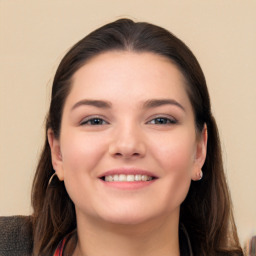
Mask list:
[{"label": "woman's ear on the right, with small earring on its lobe", "polygon": [[192,173],[192,180],[194,181],[200,180],[202,178],[201,169],[206,159],[207,140],[208,140],[208,132],[207,132],[207,126],[205,124],[202,133],[199,135],[197,139],[194,168]]}]

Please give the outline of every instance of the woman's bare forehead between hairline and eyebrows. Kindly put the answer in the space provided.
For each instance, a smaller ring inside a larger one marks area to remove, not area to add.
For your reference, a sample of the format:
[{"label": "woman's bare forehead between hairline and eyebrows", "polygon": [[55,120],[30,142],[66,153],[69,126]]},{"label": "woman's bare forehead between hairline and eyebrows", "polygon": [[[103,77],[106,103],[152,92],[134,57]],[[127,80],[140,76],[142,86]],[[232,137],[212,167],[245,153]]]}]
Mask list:
[{"label": "woman's bare forehead between hairline and eyebrows", "polygon": [[166,57],[111,51],[93,57],[74,74],[67,101],[83,97],[123,102],[152,97],[188,101],[185,84],[182,73]]}]

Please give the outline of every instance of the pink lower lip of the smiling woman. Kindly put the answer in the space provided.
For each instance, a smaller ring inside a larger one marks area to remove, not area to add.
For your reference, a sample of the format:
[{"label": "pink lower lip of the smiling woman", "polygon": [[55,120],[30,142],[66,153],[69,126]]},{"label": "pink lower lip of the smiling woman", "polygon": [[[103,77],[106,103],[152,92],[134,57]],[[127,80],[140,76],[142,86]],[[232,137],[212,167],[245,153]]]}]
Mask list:
[{"label": "pink lower lip of the smiling woman", "polygon": [[117,188],[117,189],[122,189],[122,190],[136,190],[136,189],[148,187],[149,185],[154,183],[156,181],[156,179],[150,180],[150,181],[130,181],[130,182],[125,182],[125,181],[111,182],[111,181],[104,181],[101,179],[100,179],[100,181],[107,187]]}]

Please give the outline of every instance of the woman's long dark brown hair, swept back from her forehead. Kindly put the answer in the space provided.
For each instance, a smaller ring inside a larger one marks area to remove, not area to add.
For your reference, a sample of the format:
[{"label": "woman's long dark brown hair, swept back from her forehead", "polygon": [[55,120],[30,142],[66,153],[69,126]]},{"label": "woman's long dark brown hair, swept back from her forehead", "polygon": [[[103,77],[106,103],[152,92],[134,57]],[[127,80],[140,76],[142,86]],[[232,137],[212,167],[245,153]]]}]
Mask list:
[{"label": "woman's long dark brown hair, swept back from her forehead", "polygon": [[204,74],[189,48],[169,31],[144,22],[120,19],[107,24],[75,44],[62,59],[52,86],[46,120],[45,145],[36,170],[34,208],[34,255],[51,255],[58,242],[76,228],[74,204],[62,182],[48,186],[54,173],[47,130],[60,135],[63,106],[72,87],[72,76],[90,58],[112,50],[152,52],[167,57],[186,79],[196,129],[208,130],[204,178],[191,183],[181,205],[180,221],[190,236],[195,255],[242,255],[234,224],[231,199],[223,171],[219,135],[211,113]]}]

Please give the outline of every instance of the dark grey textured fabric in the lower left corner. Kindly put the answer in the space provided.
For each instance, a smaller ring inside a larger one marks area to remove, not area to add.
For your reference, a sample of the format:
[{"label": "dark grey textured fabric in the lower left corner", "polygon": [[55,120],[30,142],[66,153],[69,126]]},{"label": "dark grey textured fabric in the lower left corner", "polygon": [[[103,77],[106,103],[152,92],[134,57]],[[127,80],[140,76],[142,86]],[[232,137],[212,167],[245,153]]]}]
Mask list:
[{"label": "dark grey textured fabric in the lower left corner", "polygon": [[0,255],[28,256],[32,253],[32,218],[29,216],[0,217]]}]

